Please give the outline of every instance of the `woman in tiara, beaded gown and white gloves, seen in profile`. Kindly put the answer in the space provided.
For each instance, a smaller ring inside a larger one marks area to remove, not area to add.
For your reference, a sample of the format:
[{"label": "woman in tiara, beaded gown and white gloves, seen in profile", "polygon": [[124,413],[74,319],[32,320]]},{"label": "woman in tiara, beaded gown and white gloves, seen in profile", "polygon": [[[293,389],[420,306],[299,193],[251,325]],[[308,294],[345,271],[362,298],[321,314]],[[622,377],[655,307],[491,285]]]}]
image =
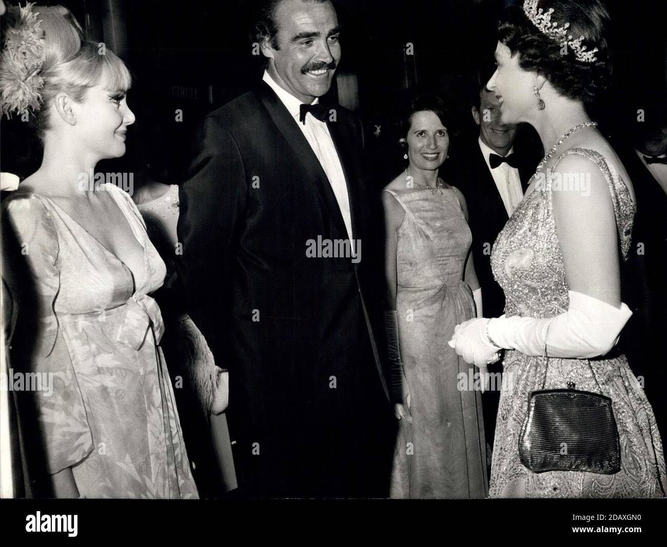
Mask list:
[{"label": "woman in tiara, beaded gown and white gloves, seen in profile", "polygon": [[[526,2],[524,9],[510,8],[500,24],[498,69],[487,87],[500,97],[503,120],[531,123],[547,154],[493,247],[492,268],[505,291],[505,315],[465,322],[452,341],[459,354],[477,364],[497,359],[500,348],[507,350],[504,374],[512,381],[504,382],[500,396],[490,496],[662,497],[665,462],[656,420],[628,360],[615,347],[632,313],[620,300],[619,272],[620,262],[634,252],[634,192],[583,104],[604,82],[608,14],[598,0],[544,5],[554,8],[552,23],[570,23],[586,39],[588,51],[597,50],[595,61],[586,61],[590,57],[581,49],[559,55],[558,41],[536,26],[532,7]],[[524,41],[526,35],[532,40]],[[540,65],[548,58],[558,59],[549,68],[554,81]],[[587,77],[558,79],[576,74]],[[578,184],[564,184],[572,174],[578,175]],[[518,442],[528,398],[543,382],[544,389],[574,384],[611,398],[620,471],[536,473],[522,464]]]}]

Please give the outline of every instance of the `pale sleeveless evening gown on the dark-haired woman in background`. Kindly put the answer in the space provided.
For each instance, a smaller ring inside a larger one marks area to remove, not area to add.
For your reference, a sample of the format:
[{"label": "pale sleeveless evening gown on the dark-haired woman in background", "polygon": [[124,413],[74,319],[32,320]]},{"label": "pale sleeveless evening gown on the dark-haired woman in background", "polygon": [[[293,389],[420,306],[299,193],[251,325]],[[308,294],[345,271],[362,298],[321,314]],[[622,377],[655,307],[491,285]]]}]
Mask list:
[{"label": "pale sleeveless evening gown on the dark-haired woman in background", "polygon": [[396,310],[413,420],[398,422],[390,496],[484,498],[482,400],[479,390],[468,390],[467,379],[477,369],[447,343],[454,326],[475,316],[463,280],[470,228],[451,187],[442,193],[386,191],[405,210],[398,229]]}]

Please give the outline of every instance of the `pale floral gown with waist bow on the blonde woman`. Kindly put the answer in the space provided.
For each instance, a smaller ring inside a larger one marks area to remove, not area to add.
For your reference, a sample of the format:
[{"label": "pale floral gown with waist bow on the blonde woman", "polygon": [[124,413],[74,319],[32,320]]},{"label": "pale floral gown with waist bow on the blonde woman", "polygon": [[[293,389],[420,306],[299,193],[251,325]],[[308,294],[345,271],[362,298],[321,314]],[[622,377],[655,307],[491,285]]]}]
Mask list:
[{"label": "pale floral gown with waist bow on the blonde woman", "polygon": [[136,279],[48,198],[19,189],[3,203],[5,232],[21,249],[8,261],[25,266],[34,300],[29,309],[19,303],[19,314],[35,319],[32,343],[15,342],[13,353],[52,375],[52,393],[31,400],[40,440],[26,449],[43,454],[51,474],[71,467],[87,498],[197,498],[157,345],[162,318],[147,296],[165,265],[129,195],[111,184],[100,191],[111,193],[143,247]]}]

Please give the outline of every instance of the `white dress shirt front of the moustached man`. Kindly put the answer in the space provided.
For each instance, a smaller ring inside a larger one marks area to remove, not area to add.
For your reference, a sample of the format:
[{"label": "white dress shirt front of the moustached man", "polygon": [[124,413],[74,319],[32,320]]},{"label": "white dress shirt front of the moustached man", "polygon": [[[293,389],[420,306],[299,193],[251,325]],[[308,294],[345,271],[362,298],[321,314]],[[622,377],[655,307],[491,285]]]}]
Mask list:
[{"label": "white dress shirt front of the moustached man", "polygon": [[[301,101],[277,85],[267,71],[264,71],[262,79],[271,87],[271,89],[273,89],[273,91],[275,91],[275,94],[293,117],[296,125],[301,129],[301,133],[303,133],[305,140],[308,141],[311,149],[313,149],[315,156],[317,156],[319,165],[322,166],[325,175],[327,175],[327,179],[329,179],[329,184],[333,190],[333,195],[336,196],[336,201],[338,201],[338,207],[340,207],[340,212],[343,215],[343,221],[345,222],[345,227],[348,231],[348,238],[354,244],[354,240],[352,239],[352,216],[350,215],[348,185],[345,181],[343,166],[341,165],[340,158],[336,152],[336,146],[333,145],[333,140],[331,140],[331,134],[329,133],[327,124],[323,121],[319,121],[311,113],[305,115],[305,124],[301,123],[299,121],[299,107],[302,104]],[[312,104],[316,105],[317,101],[319,101],[319,99],[315,99]]]}]

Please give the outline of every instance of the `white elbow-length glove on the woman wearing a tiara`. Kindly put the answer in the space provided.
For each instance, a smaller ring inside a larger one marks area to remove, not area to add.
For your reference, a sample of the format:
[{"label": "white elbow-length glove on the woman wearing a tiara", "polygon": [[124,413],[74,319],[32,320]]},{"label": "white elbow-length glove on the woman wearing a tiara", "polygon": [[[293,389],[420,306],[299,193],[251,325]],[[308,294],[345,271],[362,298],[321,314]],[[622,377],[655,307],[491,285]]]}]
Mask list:
[{"label": "white elbow-length glove on the woman wearing a tiara", "polygon": [[550,357],[586,359],[608,353],[632,315],[630,308],[622,303],[619,309],[574,290],[568,294],[568,310],[555,317],[466,321],[456,327],[450,346],[478,366],[486,364],[500,348],[541,356],[545,342]]}]

